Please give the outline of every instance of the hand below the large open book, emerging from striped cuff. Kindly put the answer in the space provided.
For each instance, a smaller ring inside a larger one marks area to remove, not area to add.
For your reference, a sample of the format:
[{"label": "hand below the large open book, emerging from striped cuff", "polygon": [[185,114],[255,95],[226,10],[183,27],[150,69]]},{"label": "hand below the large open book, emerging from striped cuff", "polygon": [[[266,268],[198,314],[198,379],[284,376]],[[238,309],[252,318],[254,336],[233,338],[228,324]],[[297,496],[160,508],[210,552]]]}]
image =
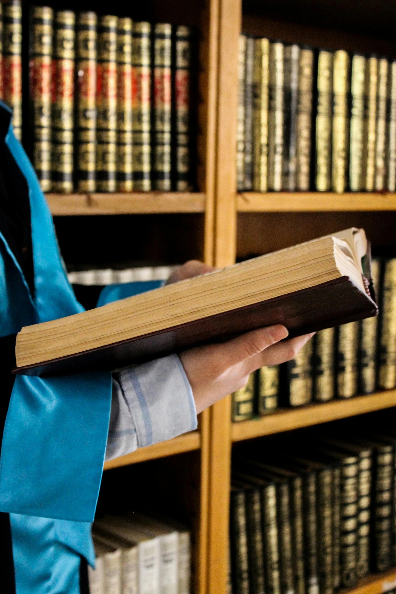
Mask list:
[{"label": "hand below the large open book, emerging from striped cuff", "polygon": [[180,353],[197,412],[245,386],[249,375],[259,367],[294,359],[315,333],[280,342],[288,334],[284,326],[277,324],[219,345],[198,346]]}]

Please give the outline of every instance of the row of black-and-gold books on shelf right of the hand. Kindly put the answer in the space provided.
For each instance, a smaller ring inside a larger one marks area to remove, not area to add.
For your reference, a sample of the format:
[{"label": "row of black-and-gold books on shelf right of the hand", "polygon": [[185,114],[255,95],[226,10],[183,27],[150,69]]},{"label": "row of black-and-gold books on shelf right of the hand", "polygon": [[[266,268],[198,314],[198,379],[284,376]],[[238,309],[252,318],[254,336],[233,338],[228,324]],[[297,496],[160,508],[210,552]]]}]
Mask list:
[{"label": "row of black-and-gold books on shelf right of the hand", "polygon": [[233,421],[396,386],[396,258],[374,258],[372,277],[379,316],[321,330],[292,361],[251,374],[233,394]]}]

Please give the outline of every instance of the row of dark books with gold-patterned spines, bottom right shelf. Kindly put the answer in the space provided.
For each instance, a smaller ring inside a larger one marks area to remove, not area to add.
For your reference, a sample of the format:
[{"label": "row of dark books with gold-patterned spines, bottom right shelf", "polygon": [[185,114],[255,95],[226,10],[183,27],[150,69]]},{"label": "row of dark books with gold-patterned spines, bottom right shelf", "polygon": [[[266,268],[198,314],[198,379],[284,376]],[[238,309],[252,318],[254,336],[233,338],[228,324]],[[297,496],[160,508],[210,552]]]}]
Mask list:
[{"label": "row of dark books with gold-patterned spines, bottom right shelf", "polygon": [[395,567],[395,454],[385,418],[267,438],[236,453],[233,594],[332,594]]}]

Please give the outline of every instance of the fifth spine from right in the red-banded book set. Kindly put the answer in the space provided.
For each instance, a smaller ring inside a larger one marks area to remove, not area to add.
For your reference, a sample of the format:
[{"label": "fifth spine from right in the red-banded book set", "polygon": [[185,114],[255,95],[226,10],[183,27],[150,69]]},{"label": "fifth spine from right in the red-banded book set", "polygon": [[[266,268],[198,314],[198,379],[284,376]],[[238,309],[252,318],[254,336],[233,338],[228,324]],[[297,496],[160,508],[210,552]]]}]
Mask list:
[{"label": "fifth spine from right in the red-banded book set", "polygon": [[96,189],[116,190],[117,22],[106,15],[97,28]]}]

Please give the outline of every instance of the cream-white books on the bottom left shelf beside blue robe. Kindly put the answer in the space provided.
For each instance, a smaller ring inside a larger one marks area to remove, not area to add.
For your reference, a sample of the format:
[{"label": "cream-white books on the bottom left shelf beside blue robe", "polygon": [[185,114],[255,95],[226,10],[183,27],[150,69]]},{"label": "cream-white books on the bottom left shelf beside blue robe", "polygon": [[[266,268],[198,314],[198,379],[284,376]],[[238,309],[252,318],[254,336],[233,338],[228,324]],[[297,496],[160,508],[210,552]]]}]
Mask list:
[{"label": "cream-white books on the bottom left shelf beside blue robe", "polygon": [[190,533],[173,520],[140,513],[95,520],[91,594],[189,594]]}]

